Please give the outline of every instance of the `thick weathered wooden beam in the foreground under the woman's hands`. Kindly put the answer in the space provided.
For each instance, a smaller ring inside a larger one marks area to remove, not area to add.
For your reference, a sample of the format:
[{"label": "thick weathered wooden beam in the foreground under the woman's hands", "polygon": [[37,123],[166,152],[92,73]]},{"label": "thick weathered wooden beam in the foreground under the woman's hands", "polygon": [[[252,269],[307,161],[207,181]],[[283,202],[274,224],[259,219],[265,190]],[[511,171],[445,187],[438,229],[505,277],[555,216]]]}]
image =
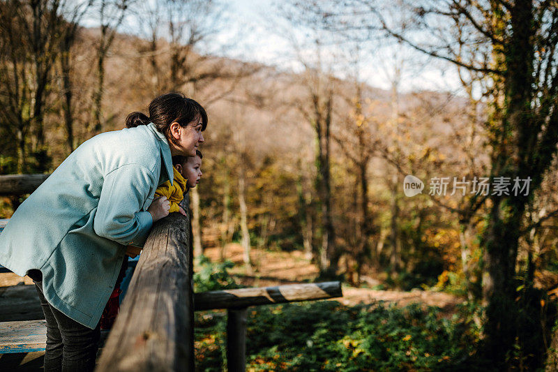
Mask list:
[{"label": "thick weathered wooden beam in the foreground under the woman's hands", "polygon": [[193,371],[188,218],[155,223],[97,371]]}]

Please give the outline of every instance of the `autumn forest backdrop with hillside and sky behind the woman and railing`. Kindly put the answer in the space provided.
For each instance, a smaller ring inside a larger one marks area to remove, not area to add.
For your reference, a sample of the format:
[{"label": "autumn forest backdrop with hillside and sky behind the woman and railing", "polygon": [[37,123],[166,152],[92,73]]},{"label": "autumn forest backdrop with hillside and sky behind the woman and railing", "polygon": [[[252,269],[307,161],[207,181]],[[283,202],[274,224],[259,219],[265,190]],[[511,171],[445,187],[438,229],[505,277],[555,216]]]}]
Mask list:
[{"label": "autumn forest backdrop with hillside and sky behind the woman and railing", "polygon": [[[267,61],[235,4],[1,0],[0,174],[50,173],[181,91],[209,115],[197,290],[247,285],[269,253],[458,302],[255,308],[250,371],[557,371],[558,2],[266,1],[288,45]],[[222,370],[223,317],[196,325],[197,368]]]}]

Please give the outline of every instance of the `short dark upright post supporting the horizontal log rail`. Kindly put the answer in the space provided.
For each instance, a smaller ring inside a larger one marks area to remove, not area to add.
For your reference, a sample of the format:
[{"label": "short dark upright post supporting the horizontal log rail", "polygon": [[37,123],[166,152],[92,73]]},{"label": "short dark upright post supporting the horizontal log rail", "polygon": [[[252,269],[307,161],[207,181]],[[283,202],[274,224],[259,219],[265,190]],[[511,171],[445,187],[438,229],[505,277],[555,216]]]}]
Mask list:
[{"label": "short dark upright post supporting the horizontal log rail", "polygon": [[246,371],[246,320],[248,308],[227,310],[227,369]]}]

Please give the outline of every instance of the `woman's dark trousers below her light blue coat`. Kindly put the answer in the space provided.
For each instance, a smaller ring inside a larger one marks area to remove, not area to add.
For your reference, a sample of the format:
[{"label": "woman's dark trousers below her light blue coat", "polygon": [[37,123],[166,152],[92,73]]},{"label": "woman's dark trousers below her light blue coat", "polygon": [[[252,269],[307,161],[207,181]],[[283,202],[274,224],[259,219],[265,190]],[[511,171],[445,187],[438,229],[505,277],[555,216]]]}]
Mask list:
[{"label": "woman's dark trousers below her light blue coat", "polygon": [[56,310],[45,299],[42,277],[40,281],[36,281],[37,276],[31,278],[35,281],[40,306],[47,320],[45,372],[93,371],[100,338],[99,325],[95,329],[85,327]]}]

